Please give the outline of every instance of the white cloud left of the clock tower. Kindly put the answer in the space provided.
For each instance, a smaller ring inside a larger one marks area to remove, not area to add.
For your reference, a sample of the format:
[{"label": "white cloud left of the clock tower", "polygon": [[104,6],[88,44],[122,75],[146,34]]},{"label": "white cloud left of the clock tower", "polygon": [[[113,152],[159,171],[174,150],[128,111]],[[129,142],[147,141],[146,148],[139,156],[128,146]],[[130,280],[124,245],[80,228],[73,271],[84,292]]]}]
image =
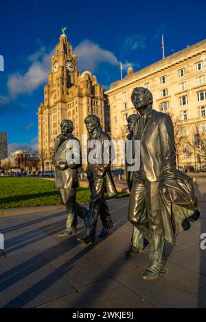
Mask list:
[{"label": "white cloud left of the clock tower", "polygon": [[32,65],[26,73],[9,75],[8,90],[13,99],[19,94],[32,93],[46,82],[53,53],[54,49],[49,53],[45,53],[45,48],[41,47],[34,55],[30,55],[29,60]]}]

